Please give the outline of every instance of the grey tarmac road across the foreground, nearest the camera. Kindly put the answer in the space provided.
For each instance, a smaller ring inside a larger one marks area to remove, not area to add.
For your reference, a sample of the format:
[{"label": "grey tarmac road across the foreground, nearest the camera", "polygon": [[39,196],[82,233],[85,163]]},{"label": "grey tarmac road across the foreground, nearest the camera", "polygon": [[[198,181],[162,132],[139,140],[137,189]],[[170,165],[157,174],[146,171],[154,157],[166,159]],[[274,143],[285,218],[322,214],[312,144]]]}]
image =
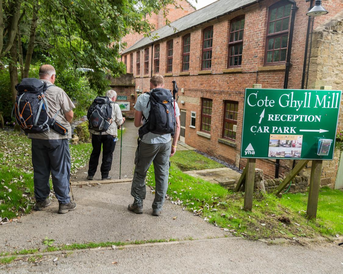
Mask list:
[{"label": "grey tarmac road across the foreground, nearest the camera", "polygon": [[[10,273],[342,273],[338,246],[268,246],[244,239],[217,238],[180,244],[136,246],[13,262]],[[53,262],[58,258],[57,262]]]}]

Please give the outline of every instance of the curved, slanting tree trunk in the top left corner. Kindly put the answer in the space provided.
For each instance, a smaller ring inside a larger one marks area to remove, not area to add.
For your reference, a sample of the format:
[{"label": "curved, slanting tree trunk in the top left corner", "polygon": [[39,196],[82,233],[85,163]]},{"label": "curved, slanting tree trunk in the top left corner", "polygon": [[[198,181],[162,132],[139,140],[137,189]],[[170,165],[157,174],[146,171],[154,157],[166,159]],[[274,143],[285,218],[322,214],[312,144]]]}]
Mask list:
[{"label": "curved, slanting tree trunk in the top left corner", "polygon": [[[1,0],[0,0],[1,1]],[[17,35],[17,28],[18,28],[18,21],[20,17],[20,7],[21,3],[23,0],[16,0],[14,4],[11,6],[11,10],[9,14],[11,15],[11,18],[9,20],[9,28],[8,28],[8,42],[3,48],[3,43],[1,39],[1,44],[0,44],[0,57],[3,57],[7,52],[9,52],[13,46],[15,37]],[[1,11],[2,11],[2,6],[1,6]],[[3,16],[2,16],[3,17]],[[0,25],[0,31],[3,29],[3,26]],[[17,46],[15,45],[15,48]]]}]

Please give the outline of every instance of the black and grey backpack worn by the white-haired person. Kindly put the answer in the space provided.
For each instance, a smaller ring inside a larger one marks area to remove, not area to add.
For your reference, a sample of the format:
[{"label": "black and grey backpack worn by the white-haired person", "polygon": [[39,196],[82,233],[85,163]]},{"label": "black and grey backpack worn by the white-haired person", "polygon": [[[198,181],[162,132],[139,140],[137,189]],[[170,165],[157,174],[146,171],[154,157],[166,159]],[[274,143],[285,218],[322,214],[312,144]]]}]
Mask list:
[{"label": "black and grey backpack worn by the white-haired person", "polygon": [[112,124],[112,102],[107,96],[96,97],[88,109],[88,128],[96,132],[105,132]]}]

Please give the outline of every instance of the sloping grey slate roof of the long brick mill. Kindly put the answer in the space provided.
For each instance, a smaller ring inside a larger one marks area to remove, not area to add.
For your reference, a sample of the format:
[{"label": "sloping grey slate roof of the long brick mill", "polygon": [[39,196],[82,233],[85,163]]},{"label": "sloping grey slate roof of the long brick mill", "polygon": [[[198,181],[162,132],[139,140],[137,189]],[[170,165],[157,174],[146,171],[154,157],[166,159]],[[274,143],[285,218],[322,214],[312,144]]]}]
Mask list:
[{"label": "sloping grey slate roof of the long brick mill", "polygon": [[[252,3],[257,3],[260,1],[261,0],[218,0],[216,2],[213,2],[212,4],[207,5],[206,7],[203,7],[197,11],[193,11],[192,13],[187,14],[184,17],[181,17],[178,20],[170,23],[171,27],[166,25],[162,28],[154,30],[151,34],[152,36],[154,36],[157,33],[157,35],[159,36],[158,39],[153,41],[149,37],[144,37],[138,42],[136,42],[135,44],[133,44],[130,48],[124,50],[122,54],[144,47],[145,45],[148,45],[151,42],[164,39],[168,36],[182,32],[193,26],[213,20],[216,17],[222,16],[224,14],[233,12],[239,8],[242,8]],[[177,29],[176,33],[174,33],[173,27]]]}]

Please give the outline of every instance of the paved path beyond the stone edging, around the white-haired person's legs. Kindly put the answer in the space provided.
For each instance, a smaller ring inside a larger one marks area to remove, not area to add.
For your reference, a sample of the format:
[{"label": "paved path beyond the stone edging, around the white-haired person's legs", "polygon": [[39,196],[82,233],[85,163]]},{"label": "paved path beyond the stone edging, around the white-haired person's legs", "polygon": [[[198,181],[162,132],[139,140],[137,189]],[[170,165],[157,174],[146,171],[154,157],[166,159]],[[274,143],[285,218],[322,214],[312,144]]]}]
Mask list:
[{"label": "paved path beyond the stone edging, around the white-haired person's legs", "polygon": [[[122,154],[121,154],[121,178],[132,178],[134,170],[134,154],[137,148],[138,128],[133,124],[133,121],[126,121],[125,133],[123,134]],[[101,180],[100,165],[102,154],[99,158],[98,170],[95,173],[94,179]],[[109,175],[113,179],[119,179],[119,164],[120,164],[120,139],[117,141],[116,148],[113,153],[113,161]],[[72,176],[73,181],[84,181],[87,178],[85,172],[88,171],[88,165],[83,167],[76,175]]]}]

